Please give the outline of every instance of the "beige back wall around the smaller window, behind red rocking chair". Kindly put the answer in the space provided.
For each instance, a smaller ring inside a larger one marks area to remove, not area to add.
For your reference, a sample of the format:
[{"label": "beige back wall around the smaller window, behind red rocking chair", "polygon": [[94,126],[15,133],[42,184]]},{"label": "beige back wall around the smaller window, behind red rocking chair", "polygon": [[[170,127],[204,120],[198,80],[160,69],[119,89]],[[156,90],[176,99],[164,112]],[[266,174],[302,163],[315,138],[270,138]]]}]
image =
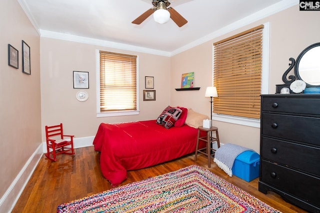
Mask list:
[{"label": "beige back wall around the smaller window, behind red rocking chair", "polygon": [[[100,123],[155,120],[170,103],[170,58],[41,37],[41,112],[44,126],[63,123],[75,138],[94,136]],[[96,49],[138,55],[139,115],[96,118]],[[72,71],[89,72],[89,89],[73,89]],[[144,77],[154,77],[155,101],[143,101]],[[79,102],[77,91],[89,98]]]}]

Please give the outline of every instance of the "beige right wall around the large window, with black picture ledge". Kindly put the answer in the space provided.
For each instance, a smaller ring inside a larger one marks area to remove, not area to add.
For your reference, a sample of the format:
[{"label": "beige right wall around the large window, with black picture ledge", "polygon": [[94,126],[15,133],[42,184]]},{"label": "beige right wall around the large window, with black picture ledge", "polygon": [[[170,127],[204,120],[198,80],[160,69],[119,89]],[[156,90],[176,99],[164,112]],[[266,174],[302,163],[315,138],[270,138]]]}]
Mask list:
[{"label": "beige right wall around the large window, with black picture ledge", "polygon": [[[204,92],[207,86],[211,86],[212,43],[266,22],[270,26],[269,94],[275,93],[275,84],[283,83],[282,74],[288,68],[288,59],[296,59],[308,45],[320,42],[319,19],[319,12],[299,11],[296,5],[172,56],[170,103],[209,115],[209,98],[204,97]],[[194,86],[201,87],[200,90],[174,91],[173,88],[179,87],[181,74],[192,71],[195,72]],[[290,74],[293,74],[293,70]],[[213,121],[212,125],[218,127],[221,143],[238,144],[259,153],[259,128],[219,121]]]}]

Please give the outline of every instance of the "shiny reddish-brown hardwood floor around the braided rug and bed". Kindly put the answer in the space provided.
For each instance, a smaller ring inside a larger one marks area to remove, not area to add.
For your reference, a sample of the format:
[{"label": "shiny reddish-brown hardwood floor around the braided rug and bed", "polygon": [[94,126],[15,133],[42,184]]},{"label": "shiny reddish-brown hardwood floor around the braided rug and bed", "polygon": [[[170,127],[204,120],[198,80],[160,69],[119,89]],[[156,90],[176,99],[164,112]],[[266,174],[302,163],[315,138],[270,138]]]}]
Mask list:
[{"label": "shiny reddish-brown hardwood floor around the braided rug and bed", "polygon": [[[176,171],[192,164],[211,171],[283,213],[306,213],[286,203],[275,193],[268,192],[266,195],[260,193],[257,190],[258,178],[248,183],[235,176],[229,177],[213,161],[211,168],[208,168],[207,158],[201,154],[198,154],[196,162],[194,154],[190,154],[157,166],[129,171],[128,178],[120,186]],[[58,155],[56,162],[51,162],[43,155],[12,213],[55,213],[57,206],[62,203],[111,188],[100,172],[99,153],[94,151],[93,146],[75,149],[74,156]]]}]

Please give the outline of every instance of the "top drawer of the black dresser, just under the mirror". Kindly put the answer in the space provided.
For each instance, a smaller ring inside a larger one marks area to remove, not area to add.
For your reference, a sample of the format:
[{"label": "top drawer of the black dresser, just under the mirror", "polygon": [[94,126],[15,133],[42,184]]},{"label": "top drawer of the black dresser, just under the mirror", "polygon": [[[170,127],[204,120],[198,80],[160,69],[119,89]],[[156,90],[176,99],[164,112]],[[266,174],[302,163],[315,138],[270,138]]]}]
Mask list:
[{"label": "top drawer of the black dresser, just under the mirror", "polygon": [[319,98],[263,98],[262,111],[319,115]]}]

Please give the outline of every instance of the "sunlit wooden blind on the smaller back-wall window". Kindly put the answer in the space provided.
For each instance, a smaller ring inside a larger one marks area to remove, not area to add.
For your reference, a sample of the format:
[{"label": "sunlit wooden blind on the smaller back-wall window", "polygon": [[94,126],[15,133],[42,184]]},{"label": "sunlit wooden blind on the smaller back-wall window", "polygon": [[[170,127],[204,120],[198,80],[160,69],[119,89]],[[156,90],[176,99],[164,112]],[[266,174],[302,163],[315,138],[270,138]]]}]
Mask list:
[{"label": "sunlit wooden blind on the smaller back-wall window", "polygon": [[100,112],[136,110],[136,55],[100,53]]}]

